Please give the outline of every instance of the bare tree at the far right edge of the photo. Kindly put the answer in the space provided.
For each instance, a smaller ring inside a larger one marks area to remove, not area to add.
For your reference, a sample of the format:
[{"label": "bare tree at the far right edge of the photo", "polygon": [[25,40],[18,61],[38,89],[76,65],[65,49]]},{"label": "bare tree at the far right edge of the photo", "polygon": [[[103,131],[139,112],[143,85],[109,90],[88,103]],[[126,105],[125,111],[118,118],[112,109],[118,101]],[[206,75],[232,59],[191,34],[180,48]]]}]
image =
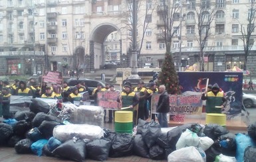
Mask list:
[{"label": "bare tree at the far right edge of the photo", "polygon": [[251,52],[251,47],[254,44],[254,39],[253,39],[253,32],[255,30],[255,20],[256,20],[256,15],[255,15],[255,9],[256,7],[256,2],[251,0],[249,9],[248,9],[248,24],[245,26],[244,24],[241,25],[241,40],[243,41],[243,51],[245,52],[245,63],[244,63],[244,70],[247,70],[247,59],[248,56]]}]

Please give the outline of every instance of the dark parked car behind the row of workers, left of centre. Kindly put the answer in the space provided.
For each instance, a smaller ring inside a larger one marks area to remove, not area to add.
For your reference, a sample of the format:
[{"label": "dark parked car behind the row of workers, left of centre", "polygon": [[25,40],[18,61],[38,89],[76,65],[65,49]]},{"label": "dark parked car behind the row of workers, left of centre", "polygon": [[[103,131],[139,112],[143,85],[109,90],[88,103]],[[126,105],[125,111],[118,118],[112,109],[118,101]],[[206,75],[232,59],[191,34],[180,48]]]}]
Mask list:
[{"label": "dark parked car behind the row of workers, left of centre", "polygon": [[105,87],[105,82],[102,80],[95,80],[95,79],[88,79],[88,78],[81,78],[81,77],[78,79],[78,81],[76,78],[72,77],[70,79],[67,79],[66,83],[68,83],[68,86],[72,88],[76,86],[78,83],[81,83],[82,81],[84,81],[85,84],[88,86],[88,89],[89,89],[88,93],[90,97],[92,96],[92,91],[96,89],[98,83],[100,83],[102,87]]}]

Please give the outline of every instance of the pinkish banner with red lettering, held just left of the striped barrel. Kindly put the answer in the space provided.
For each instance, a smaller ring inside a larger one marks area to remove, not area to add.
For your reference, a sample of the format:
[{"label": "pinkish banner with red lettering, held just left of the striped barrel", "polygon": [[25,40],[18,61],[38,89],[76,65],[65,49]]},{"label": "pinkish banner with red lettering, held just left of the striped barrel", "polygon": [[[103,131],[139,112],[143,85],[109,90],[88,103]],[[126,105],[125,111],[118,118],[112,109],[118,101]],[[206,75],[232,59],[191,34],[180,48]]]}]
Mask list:
[{"label": "pinkish banner with red lettering, held just left of the striped barrel", "polygon": [[118,110],[121,108],[121,103],[116,99],[120,95],[118,91],[102,91],[97,93],[98,106],[102,106],[104,109]]}]

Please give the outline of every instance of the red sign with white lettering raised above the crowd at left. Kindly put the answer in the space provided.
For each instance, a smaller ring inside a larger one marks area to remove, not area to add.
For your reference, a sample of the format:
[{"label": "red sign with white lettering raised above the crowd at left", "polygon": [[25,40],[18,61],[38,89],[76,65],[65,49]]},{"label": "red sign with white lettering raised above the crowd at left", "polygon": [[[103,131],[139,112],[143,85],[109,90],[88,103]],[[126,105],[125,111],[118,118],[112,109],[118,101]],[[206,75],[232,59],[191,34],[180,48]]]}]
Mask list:
[{"label": "red sign with white lettering raised above the crowd at left", "polygon": [[63,84],[63,74],[59,71],[44,71],[43,82]]}]

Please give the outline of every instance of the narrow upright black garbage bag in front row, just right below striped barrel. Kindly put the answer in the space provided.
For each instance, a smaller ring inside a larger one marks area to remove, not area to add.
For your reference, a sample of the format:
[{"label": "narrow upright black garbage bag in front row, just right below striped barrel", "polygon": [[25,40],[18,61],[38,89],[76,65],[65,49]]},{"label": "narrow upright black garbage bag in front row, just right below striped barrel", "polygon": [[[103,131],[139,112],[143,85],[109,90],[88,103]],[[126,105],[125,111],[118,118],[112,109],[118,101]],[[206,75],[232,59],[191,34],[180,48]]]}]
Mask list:
[{"label": "narrow upright black garbage bag in front row, just right below striped barrel", "polygon": [[135,155],[140,157],[150,158],[150,149],[142,139],[141,134],[136,134],[134,142],[132,143],[132,151]]}]

